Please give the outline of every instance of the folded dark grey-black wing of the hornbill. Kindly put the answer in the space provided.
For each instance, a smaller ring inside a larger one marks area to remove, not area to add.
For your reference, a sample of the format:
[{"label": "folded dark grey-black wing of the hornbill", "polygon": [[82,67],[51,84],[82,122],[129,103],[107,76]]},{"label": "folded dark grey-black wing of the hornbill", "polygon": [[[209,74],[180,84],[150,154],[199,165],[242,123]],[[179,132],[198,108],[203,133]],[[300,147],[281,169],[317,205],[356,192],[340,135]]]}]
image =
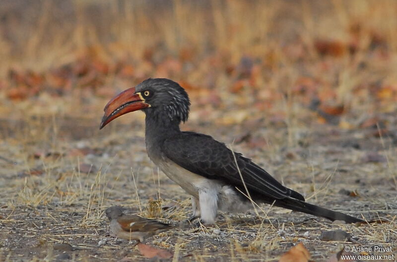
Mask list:
[{"label": "folded dark grey-black wing of the hornbill", "polygon": [[208,179],[217,179],[234,185],[245,194],[241,176],[250,194],[260,198],[293,197],[305,200],[299,193],[281,185],[251,159],[240,153],[234,153],[233,156],[233,151],[224,143],[216,141],[209,135],[182,132],[167,138],[163,142],[162,151],[181,167]]}]

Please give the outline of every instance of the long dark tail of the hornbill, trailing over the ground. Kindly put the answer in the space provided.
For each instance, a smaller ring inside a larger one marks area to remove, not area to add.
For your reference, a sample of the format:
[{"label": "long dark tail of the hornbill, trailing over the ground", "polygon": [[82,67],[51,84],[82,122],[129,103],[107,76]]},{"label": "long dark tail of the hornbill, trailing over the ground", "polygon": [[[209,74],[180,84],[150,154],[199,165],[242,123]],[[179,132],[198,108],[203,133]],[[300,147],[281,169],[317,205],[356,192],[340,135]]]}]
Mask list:
[{"label": "long dark tail of the hornbill, trailing over the ground", "polygon": [[330,219],[332,221],[334,220],[342,220],[345,221],[346,223],[356,223],[356,222],[365,222],[362,219],[353,217],[353,216],[349,216],[346,214],[343,214],[341,212],[336,212],[336,211],[332,211],[330,209],[327,208],[323,208],[314,204],[309,204],[307,202],[298,200],[298,199],[294,199],[294,198],[284,198],[284,199],[277,199],[274,202],[274,205],[279,206],[279,207],[284,207],[287,209],[291,209],[294,211],[299,211],[299,212],[303,212],[306,214],[311,214],[311,215],[315,215],[315,216],[320,216],[320,217],[324,217],[327,219]]}]

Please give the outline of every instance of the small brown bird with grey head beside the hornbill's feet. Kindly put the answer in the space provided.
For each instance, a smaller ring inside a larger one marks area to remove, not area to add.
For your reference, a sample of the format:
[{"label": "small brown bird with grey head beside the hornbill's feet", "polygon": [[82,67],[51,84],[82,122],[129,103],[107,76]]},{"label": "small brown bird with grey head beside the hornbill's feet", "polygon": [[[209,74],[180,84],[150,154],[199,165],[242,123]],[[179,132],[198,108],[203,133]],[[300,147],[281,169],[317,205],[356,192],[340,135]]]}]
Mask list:
[{"label": "small brown bird with grey head beside the hornbill's feet", "polygon": [[118,238],[143,242],[145,238],[167,231],[175,226],[138,215],[126,215],[120,206],[112,206],[105,210],[110,220],[110,231]]}]

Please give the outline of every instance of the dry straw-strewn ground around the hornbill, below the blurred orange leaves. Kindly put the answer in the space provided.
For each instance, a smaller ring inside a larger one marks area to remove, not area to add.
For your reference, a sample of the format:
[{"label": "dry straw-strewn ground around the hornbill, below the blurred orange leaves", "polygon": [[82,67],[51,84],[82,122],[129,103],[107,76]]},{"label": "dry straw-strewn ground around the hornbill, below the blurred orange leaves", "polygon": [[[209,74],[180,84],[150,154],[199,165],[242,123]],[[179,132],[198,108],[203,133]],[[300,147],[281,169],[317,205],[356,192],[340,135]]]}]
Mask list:
[{"label": "dry straw-strewn ground around the hornbill, below the blurred orange leaves", "polygon": [[[185,222],[189,196],[148,159],[143,113],[99,131],[104,102],[84,119],[1,119],[0,261],[147,261],[132,243],[109,236],[103,212],[112,205],[180,225],[146,242],[175,251],[174,261],[277,261],[298,242],[316,262],[346,245],[396,247],[393,131],[379,136],[376,125],[344,131],[315,124],[313,116],[287,126],[263,117],[221,125],[214,117],[193,115],[184,130],[224,141],[309,202],[384,220],[340,225],[262,206],[258,213],[221,213],[214,227],[205,227]],[[382,118],[393,124],[393,116]],[[357,242],[319,240],[322,231],[335,229]]]}]

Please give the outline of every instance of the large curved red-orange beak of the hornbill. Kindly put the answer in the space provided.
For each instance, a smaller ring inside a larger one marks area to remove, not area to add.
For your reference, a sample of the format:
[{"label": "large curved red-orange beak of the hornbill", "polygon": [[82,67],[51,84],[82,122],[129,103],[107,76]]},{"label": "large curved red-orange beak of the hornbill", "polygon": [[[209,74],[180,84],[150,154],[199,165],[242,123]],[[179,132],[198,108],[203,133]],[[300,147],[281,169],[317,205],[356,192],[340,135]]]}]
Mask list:
[{"label": "large curved red-orange beak of the hornbill", "polygon": [[99,129],[124,114],[147,107],[150,107],[150,105],[145,103],[140,93],[135,93],[135,87],[124,90],[106,104],[103,109],[105,114],[102,117]]}]

